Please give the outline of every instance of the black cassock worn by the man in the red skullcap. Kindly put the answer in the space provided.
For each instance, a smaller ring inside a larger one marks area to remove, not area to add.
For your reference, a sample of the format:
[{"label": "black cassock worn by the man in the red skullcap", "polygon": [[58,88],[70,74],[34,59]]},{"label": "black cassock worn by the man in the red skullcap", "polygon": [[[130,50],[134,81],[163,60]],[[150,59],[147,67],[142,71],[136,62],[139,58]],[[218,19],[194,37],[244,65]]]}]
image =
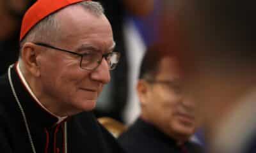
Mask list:
[{"label": "black cassock worn by the man in the red skullcap", "polygon": [[[0,152],[122,152],[115,138],[104,129],[92,112],[58,119],[45,111],[22,84],[16,67],[10,71],[15,93],[20,101],[31,135],[17,100],[13,96],[8,74],[0,77]],[[65,128],[65,124],[67,125]],[[65,132],[67,131],[67,132]],[[67,144],[67,146],[65,146]]]}]

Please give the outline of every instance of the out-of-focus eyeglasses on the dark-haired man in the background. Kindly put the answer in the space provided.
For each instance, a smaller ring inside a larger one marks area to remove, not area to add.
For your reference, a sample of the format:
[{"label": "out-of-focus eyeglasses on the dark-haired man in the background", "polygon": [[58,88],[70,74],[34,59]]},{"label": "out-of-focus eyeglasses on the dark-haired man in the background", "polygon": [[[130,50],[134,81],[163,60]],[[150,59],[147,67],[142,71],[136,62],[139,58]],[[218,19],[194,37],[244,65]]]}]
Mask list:
[{"label": "out-of-focus eyeglasses on the dark-haired man in the background", "polygon": [[169,80],[147,80],[147,82],[151,84],[163,84],[165,85],[168,90],[173,91],[175,94],[182,93],[182,87],[179,83],[169,81]]}]

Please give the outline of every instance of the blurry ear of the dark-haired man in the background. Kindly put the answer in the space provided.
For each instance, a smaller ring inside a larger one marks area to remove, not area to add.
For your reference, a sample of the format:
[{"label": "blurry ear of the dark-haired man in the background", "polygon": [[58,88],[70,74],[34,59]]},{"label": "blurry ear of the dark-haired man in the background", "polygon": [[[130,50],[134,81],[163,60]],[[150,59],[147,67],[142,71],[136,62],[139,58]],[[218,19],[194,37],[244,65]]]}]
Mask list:
[{"label": "blurry ear of the dark-haired man in the background", "polygon": [[140,99],[141,106],[147,103],[147,99],[149,96],[149,84],[143,79],[138,80],[137,84],[137,94]]}]

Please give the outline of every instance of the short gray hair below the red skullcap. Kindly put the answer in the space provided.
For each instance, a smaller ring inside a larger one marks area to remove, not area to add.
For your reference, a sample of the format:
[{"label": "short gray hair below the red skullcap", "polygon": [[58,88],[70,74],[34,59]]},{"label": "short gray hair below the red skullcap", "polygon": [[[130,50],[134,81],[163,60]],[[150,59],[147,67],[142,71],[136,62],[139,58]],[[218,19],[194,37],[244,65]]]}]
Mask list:
[{"label": "short gray hair below the red skullcap", "polygon": [[[75,6],[82,6],[84,10],[89,11],[97,17],[104,14],[104,9],[99,2],[82,1],[80,3],[72,4],[68,7]],[[58,13],[58,11],[56,13]],[[20,41],[20,51],[24,43],[29,41],[42,41],[44,43],[47,43],[49,41],[54,42],[58,40],[57,38],[59,35],[58,33],[60,31],[60,26],[58,24],[58,20],[56,20],[55,18],[56,13],[45,17],[42,21],[38,22],[38,24],[36,24],[35,27],[31,29],[31,31],[29,31],[24,39]]]}]

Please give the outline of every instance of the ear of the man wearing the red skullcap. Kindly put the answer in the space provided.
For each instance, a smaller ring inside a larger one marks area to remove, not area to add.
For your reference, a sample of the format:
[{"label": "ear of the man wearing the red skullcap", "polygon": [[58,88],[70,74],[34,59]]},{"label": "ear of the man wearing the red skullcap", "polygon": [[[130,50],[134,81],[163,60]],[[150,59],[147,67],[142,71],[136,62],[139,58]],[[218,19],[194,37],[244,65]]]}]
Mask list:
[{"label": "ear of the man wearing the red skullcap", "polygon": [[40,54],[40,48],[33,43],[24,43],[21,48],[21,59],[26,71],[35,77],[40,76],[40,68],[37,57]]}]

